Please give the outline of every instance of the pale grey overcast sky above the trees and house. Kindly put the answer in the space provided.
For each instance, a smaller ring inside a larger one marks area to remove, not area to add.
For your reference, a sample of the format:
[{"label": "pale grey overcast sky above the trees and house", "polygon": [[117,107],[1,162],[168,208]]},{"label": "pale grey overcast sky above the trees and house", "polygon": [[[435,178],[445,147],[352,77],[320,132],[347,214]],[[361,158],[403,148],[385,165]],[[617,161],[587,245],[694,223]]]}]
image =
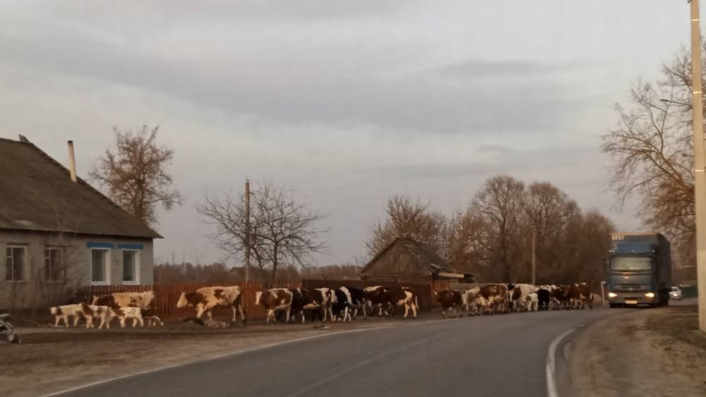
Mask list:
[{"label": "pale grey overcast sky above the trees and house", "polygon": [[157,261],[224,255],[195,204],[246,178],[364,253],[390,195],[450,214],[486,178],[550,181],[619,228],[600,138],[630,83],[689,41],[686,1],[3,1],[0,136],[85,177],[112,128],[160,126],[184,194]]}]

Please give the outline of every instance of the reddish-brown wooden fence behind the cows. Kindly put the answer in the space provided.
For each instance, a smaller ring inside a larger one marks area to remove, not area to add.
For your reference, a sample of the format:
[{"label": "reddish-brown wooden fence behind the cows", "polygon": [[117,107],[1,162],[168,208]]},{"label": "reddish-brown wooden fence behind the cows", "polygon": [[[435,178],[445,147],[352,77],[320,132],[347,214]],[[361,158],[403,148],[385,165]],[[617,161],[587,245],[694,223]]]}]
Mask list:
[{"label": "reddish-brown wooden fence behind the cows", "polygon": [[[228,283],[240,287],[243,295],[243,309],[248,318],[263,319],[265,310],[261,306],[255,305],[255,295],[258,291],[265,289],[265,284],[256,281]],[[407,286],[414,288],[419,295],[419,307],[421,310],[431,310],[434,305],[432,293],[443,288],[448,288],[448,281],[433,281],[432,283],[376,283],[374,281],[359,280],[314,280],[304,279],[301,283],[283,283],[283,288],[339,288],[340,286],[351,286],[354,288],[365,288],[366,286]],[[85,301],[92,301],[92,297],[104,296],[115,292],[144,292],[155,291],[155,302],[153,305],[164,317],[186,318],[195,314],[193,307],[177,308],[177,301],[182,292],[196,291],[201,287],[213,286],[213,283],[181,283],[181,284],[152,284],[144,286],[83,286],[77,291],[78,298]],[[214,317],[228,319],[232,316],[229,307],[215,307]]]}]

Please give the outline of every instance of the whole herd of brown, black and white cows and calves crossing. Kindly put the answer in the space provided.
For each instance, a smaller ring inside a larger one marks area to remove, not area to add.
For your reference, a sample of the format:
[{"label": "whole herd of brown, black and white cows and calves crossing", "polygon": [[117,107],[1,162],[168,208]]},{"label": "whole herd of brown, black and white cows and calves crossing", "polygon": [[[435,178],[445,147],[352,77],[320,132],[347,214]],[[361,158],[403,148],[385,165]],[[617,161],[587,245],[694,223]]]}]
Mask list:
[{"label": "whole herd of brown, black and white cows and calves crossing", "polygon": [[[593,298],[586,283],[573,283],[563,286],[533,286],[530,284],[486,284],[460,292],[447,288],[434,293],[436,301],[441,305],[441,315],[447,311],[451,315],[461,314],[465,310],[469,315],[493,314],[521,311],[538,311],[551,309],[593,308]],[[73,326],[77,326],[80,317],[86,322],[86,328],[93,328],[94,321],[100,321],[99,329],[110,328],[110,322],[118,318],[120,326],[126,326],[126,320],[132,319],[133,326],[164,325],[160,314],[152,307],[155,293],[121,292],[106,296],[95,296],[90,304],[76,303],[51,307],[54,315],[54,326],[63,321],[69,325],[68,318],[73,317]],[[396,307],[404,307],[404,317],[409,312],[417,318],[419,301],[413,288],[399,286],[369,286],[353,288],[270,288],[256,293],[256,305],[260,305],[267,313],[265,322],[269,324],[277,319],[278,314],[284,314],[285,322],[294,322],[297,315],[301,322],[306,322],[305,312],[311,312],[311,319],[318,315],[321,321],[330,319],[352,321],[360,312],[367,317],[368,312],[378,316],[393,315]],[[239,286],[213,286],[198,288],[196,291],[181,293],[177,307],[191,306],[196,309],[196,318],[201,320],[203,314],[208,315],[213,322],[213,308],[217,306],[230,307],[233,312],[232,321],[246,322],[243,310],[242,294]]]}]

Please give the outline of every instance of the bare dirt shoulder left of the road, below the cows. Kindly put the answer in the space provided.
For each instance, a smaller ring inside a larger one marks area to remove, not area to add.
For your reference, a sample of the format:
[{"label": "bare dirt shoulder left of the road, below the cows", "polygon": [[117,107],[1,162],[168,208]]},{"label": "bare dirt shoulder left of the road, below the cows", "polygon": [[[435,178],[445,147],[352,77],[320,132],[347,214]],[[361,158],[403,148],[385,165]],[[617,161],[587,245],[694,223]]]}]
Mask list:
[{"label": "bare dirt shoulder left of the road, below the cows", "polygon": [[3,396],[37,396],[93,381],[135,374],[263,347],[297,338],[438,319],[369,318],[335,324],[254,324],[209,329],[195,324],[86,330],[18,329],[21,345],[0,346]]}]

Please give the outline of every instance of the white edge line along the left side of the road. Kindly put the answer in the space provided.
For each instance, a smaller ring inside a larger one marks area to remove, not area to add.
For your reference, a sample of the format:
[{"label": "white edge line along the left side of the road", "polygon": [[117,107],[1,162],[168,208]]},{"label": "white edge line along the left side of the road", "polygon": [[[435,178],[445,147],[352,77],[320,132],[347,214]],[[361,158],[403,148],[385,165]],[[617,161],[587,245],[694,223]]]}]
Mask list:
[{"label": "white edge line along the left side of the road", "polygon": [[133,373],[131,373],[131,374],[125,374],[125,375],[121,375],[121,376],[119,376],[119,377],[112,377],[112,378],[109,378],[109,379],[103,379],[103,380],[100,380],[100,381],[94,381],[94,382],[90,382],[90,383],[88,383],[88,384],[83,384],[83,385],[80,385],[80,386],[71,387],[71,388],[69,388],[69,389],[64,389],[64,390],[61,390],[61,391],[54,391],[54,392],[52,392],[52,393],[43,394],[43,395],[40,396],[40,397],[61,396],[61,394],[66,394],[66,393],[71,393],[72,391],[78,391],[78,390],[82,390],[82,389],[87,389],[87,388],[92,387],[92,386],[98,386],[98,385],[100,385],[100,384],[106,384],[106,383],[109,383],[109,382],[112,382],[112,381],[117,381],[117,380],[121,380],[121,379],[127,379],[127,378],[131,378],[131,377],[137,377],[137,376],[139,376],[139,375],[144,375],[144,374],[152,374],[152,373],[154,373],[154,372],[160,372],[160,371],[164,371],[164,370],[167,370],[167,369],[173,369],[173,368],[178,368],[178,367],[184,367],[185,365],[196,364],[197,362],[205,362],[205,361],[211,361],[211,360],[218,360],[218,359],[220,359],[220,358],[233,357],[233,356],[236,356],[236,355],[241,355],[241,354],[245,354],[245,353],[251,353],[251,352],[257,351],[257,350],[264,350],[264,349],[268,349],[268,348],[274,348],[274,347],[277,347],[277,346],[287,345],[287,344],[289,344],[289,343],[297,343],[297,342],[309,341],[309,340],[311,340],[311,339],[323,338],[323,337],[325,337],[325,336],[342,335],[342,334],[354,334],[354,333],[356,333],[356,332],[374,331],[374,330],[376,330],[376,329],[393,328],[393,327],[397,327],[397,326],[399,326],[399,327],[404,327],[404,326],[417,326],[417,325],[423,325],[423,324],[433,324],[433,323],[442,322],[442,321],[444,321],[444,319],[430,320],[430,321],[422,321],[422,322],[415,322],[415,323],[413,323],[413,324],[400,324],[400,325],[397,325],[397,324],[388,324],[388,325],[382,325],[382,326],[373,326],[373,327],[371,327],[371,328],[347,329],[346,331],[336,331],[336,332],[329,332],[329,333],[326,333],[326,334],[317,334],[317,335],[311,335],[311,336],[304,336],[303,338],[296,338],[296,339],[292,339],[292,340],[289,340],[289,341],[280,341],[280,342],[275,342],[275,343],[268,343],[268,344],[263,345],[263,346],[258,346],[258,347],[255,347],[255,348],[249,348],[249,349],[245,349],[245,350],[239,350],[239,351],[233,352],[233,353],[225,353],[225,354],[221,354],[221,355],[215,355],[215,356],[212,356],[212,357],[209,357],[209,358],[205,358],[204,360],[196,360],[196,361],[189,361],[189,362],[180,362],[179,364],[172,364],[172,365],[167,365],[167,366],[164,366],[164,367],[158,367],[158,368],[147,369],[147,370],[145,370],[145,371],[133,372]]}]

